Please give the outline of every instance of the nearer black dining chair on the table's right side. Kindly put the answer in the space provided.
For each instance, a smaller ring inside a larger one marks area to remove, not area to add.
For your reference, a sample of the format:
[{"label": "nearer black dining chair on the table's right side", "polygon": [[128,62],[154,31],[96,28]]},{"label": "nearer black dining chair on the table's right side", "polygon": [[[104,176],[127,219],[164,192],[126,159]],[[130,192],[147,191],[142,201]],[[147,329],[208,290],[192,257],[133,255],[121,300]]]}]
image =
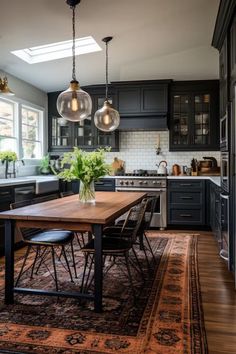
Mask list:
[{"label": "nearer black dining chair on the table's right side", "polygon": [[[112,233],[109,235],[109,237],[106,237],[106,235],[102,236],[103,268],[105,266],[107,257],[109,257],[110,260],[112,259],[112,262],[107,267],[105,274],[107,274],[107,272],[115,264],[118,265],[118,263],[116,263],[117,258],[122,258],[126,266],[130,287],[132,289],[134,297],[135,297],[135,289],[132,280],[131,267],[135,268],[140,272],[141,265],[137,253],[133,246],[138,237],[139,228],[144,217],[144,211],[145,211],[144,204],[140,203],[138,206],[132,207],[129,210],[125,222],[119,231],[119,236],[117,235],[117,233],[114,234],[114,237]],[[131,222],[132,222],[132,226],[130,226]],[[83,271],[82,284],[81,284],[81,292],[84,292],[88,288],[87,285],[89,284],[89,277],[91,274],[92,266],[94,264],[94,254],[95,254],[94,239],[90,240],[84,247],[82,247],[81,251],[85,255],[84,271]],[[139,269],[137,269],[137,266],[135,266],[131,258],[131,252],[134,255],[134,258],[138,264]],[[90,264],[88,264],[89,261]],[[86,269],[88,269],[88,271],[87,271],[87,279],[85,282]]]}]

